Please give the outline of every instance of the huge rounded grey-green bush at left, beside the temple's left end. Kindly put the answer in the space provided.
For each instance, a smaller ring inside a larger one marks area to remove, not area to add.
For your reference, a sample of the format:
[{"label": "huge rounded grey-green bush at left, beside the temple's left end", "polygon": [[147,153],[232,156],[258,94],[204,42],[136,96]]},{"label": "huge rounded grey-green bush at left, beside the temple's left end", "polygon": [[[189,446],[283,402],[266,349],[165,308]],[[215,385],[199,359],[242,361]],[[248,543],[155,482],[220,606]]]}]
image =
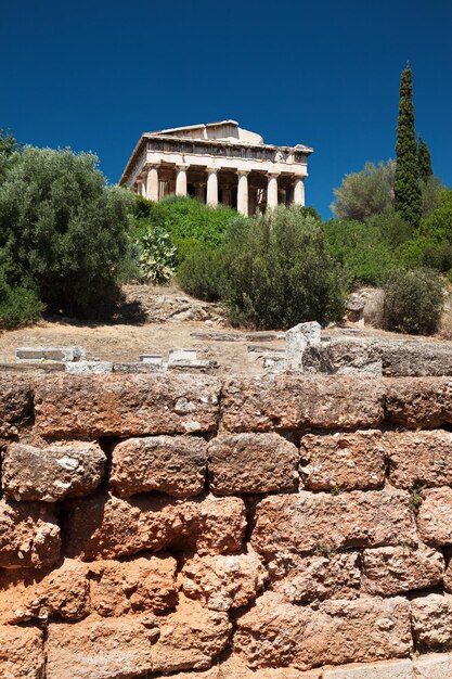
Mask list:
[{"label": "huge rounded grey-green bush at left, beside the temple's left end", "polygon": [[11,287],[35,290],[50,311],[99,316],[127,253],[129,191],[109,189],[98,159],[25,148],[0,182],[0,251]]}]

